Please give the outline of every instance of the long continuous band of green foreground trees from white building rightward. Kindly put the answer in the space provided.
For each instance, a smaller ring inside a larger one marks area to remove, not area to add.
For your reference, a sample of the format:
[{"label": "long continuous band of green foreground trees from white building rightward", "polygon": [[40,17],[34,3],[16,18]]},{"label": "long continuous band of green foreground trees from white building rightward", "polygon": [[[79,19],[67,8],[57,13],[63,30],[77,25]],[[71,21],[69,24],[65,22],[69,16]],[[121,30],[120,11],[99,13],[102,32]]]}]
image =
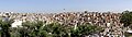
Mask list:
[{"label": "long continuous band of green foreground trees from white building rightward", "polygon": [[84,24],[76,29],[73,26],[65,26],[57,22],[45,24],[44,22],[25,22],[23,27],[12,28],[12,37],[82,37],[101,30],[100,27]]}]

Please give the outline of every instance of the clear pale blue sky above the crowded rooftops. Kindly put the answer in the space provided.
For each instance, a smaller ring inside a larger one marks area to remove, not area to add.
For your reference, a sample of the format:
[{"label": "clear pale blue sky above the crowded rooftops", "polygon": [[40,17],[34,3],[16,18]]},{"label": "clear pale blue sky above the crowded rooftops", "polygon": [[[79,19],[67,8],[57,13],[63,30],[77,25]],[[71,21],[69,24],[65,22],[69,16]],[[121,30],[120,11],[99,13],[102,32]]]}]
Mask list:
[{"label": "clear pale blue sky above the crowded rooftops", "polygon": [[0,0],[0,12],[116,11],[132,9],[132,0]]}]

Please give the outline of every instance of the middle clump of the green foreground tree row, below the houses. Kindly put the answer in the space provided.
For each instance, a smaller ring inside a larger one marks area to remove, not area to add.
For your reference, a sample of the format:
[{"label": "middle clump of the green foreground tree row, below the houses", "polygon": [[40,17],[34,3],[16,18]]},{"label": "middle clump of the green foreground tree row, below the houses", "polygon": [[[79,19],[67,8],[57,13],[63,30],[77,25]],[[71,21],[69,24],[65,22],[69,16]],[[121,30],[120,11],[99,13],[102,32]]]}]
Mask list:
[{"label": "middle clump of the green foreground tree row, below the houses", "polygon": [[68,37],[68,33],[70,33],[69,27],[61,25],[59,23],[47,24],[43,29],[53,37]]}]

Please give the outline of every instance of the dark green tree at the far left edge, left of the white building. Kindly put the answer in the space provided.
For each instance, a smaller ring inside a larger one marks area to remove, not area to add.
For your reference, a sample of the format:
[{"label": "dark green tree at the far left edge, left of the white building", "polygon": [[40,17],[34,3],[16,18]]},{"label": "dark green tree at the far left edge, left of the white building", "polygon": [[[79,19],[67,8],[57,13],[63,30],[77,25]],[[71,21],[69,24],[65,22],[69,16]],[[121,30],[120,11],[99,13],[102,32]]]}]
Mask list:
[{"label": "dark green tree at the far left edge, left of the white building", "polygon": [[13,23],[13,20],[2,21],[0,20],[0,27],[1,27],[1,37],[10,37],[10,27]]}]

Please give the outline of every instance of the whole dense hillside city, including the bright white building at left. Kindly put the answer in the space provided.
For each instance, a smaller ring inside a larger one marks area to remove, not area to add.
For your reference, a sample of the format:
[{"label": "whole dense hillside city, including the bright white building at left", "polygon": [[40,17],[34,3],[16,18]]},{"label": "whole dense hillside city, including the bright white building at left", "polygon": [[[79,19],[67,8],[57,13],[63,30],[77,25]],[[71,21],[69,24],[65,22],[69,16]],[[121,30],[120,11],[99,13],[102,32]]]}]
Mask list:
[{"label": "whole dense hillside city, including the bright white building at left", "polygon": [[[0,18],[2,21],[10,21],[10,20],[14,21],[11,23],[10,29],[13,27],[14,28],[23,27],[23,23],[25,22],[32,23],[36,21],[42,21],[45,24],[52,24],[57,22],[61,25],[74,26],[75,29],[77,29],[76,28],[77,26],[82,24],[96,25],[98,27],[101,27],[102,29],[99,33],[88,34],[85,35],[84,37],[127,37],[125,33],[132,35],[131,27],[124,27],[124,23],[121,23],[120,20],[121,16],[122,13],[117,13],[117,12],[88,12],[88,11],[63,12],[63,13],[54,13],[54,14],[0,12]],[[23,37],[29,37],[29,36],[23,36]],[[82,36],[74,36],[74,37],[82,37]]]}]

